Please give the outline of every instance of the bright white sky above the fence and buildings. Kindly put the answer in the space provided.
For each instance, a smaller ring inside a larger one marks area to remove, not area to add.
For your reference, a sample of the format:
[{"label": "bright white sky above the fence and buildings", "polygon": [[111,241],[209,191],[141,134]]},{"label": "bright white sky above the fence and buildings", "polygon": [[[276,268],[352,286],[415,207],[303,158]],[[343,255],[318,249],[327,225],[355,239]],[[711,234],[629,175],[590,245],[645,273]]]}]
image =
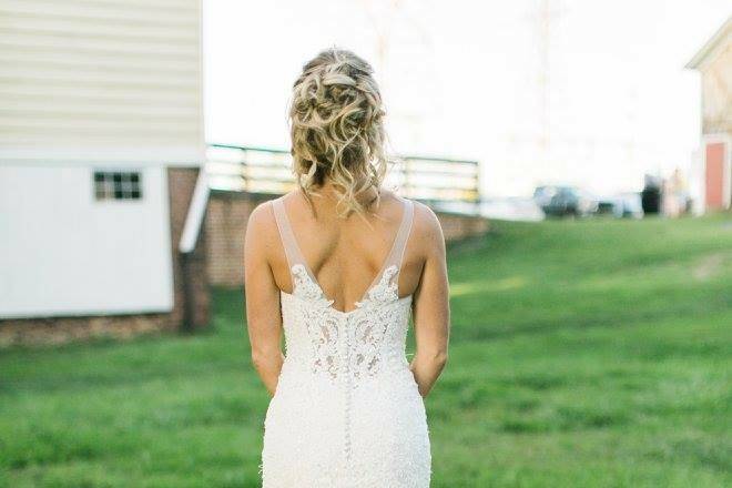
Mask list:
[{"label": "bright white sky above the fence and buildings", "polygon": [[[395,154],[474,159],[484,196],[638,191],[693,169],[699,73],[729,0],[204,1],[209,142],[288,149],[302,65],[338,45],[376,70]],[[548,19],[548,21],[545,21]]]}]

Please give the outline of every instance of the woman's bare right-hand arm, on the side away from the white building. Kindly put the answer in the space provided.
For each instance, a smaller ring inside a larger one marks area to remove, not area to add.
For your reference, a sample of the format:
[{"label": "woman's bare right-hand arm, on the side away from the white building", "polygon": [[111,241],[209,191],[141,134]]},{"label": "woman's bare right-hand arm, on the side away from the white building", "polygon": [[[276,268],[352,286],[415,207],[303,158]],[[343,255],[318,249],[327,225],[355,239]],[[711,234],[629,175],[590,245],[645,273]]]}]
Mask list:
[{"label": "woman's bare right-hand arm, on the side away from the white building", "polygon": [[445,258],[445,238],[437,216],[419,205],[415,222],[425,265],[415,292],[414,322],[417,352],[410,364],[419,394],[426,397],[445,364],[450,332],[449,286]]}]

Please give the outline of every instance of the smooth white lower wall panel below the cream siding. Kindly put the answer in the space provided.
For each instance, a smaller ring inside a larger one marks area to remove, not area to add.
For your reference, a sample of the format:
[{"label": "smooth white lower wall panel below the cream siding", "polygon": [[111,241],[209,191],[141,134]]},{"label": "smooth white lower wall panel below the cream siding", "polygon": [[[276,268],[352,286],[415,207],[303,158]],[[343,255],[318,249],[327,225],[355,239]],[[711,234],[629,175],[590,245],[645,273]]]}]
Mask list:
[{"label": "smooth white lower wall panel below the cream siding", "polygon": [[91,167],[0,166],[0,317],[170,311],[165,174],[96,202]]}]

